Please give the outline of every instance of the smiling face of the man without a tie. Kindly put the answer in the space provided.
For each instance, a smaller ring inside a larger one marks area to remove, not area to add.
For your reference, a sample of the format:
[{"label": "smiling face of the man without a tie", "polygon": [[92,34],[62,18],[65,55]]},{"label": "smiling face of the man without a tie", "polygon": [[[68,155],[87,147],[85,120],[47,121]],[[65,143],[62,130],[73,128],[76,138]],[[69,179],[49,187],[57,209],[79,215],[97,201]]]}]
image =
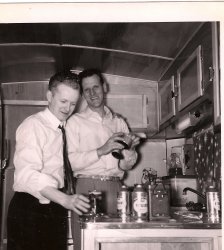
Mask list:
[{"label": "smiling face of the man without a tie", "polygon": [[103,107],[104,87],[97,75],[86,77],[82,80],[83,96],[91,109],[94,110]]}]

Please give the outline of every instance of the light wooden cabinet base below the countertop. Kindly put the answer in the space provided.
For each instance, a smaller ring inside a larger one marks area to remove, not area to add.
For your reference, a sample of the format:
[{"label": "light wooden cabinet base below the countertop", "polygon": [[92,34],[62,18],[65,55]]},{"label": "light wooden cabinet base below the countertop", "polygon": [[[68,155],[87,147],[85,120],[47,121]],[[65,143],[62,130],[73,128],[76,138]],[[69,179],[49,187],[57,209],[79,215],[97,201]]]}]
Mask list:
[{"label": "light wooden cabinet base below the countertop", "polygon": [[82,250],[221,250],[221,230],[84,229]]}]

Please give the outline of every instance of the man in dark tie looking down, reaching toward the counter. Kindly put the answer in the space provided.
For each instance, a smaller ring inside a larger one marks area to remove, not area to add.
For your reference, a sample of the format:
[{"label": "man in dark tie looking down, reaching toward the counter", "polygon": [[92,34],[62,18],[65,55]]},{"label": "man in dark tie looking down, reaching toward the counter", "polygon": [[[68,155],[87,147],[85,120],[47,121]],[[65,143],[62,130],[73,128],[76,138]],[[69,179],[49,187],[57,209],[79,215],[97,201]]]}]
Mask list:
[{"label": "man in dark tie looking down, reaching toward the counter", "polygon": [[66,249],[67,209],[81,215],[89,200],[68,195],[64,187],[63,137],[60,126],[75,109],[77,75],[51,77],[48,108],[25,119],[16,131],[14,197],[8,210],[8,250]]}]

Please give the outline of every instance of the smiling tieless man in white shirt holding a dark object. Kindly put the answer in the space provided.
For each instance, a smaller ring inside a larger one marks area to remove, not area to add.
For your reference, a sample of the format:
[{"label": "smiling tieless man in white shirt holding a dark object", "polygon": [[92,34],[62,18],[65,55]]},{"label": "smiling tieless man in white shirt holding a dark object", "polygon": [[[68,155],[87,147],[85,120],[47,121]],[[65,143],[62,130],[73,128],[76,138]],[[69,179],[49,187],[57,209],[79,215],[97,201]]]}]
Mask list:
[{"label": "smiling tieless man in white shirt holding a dark object", "polygon": [[[117,192],[124,171],[136,163],[135,147],[139,138],[130,134],[132,143],[129,149],[122,150],[124,146],[118,141],[129,134],[129,129],[121,116],[105,106],[107,89],[102,74],[97,69],[87,69],[79,76],[87,107],[80,114],[71,116],[67,124],[69,159],[77,179],[76,191],[82,194],[92,190],[102,192],[99,212],[116,214]],[[114,150],[122,150],[123,159],[114,158],[111,154]],[[75,226],[77,239],[78,226]],[[79,248],[76,246],[75,250]]]}]

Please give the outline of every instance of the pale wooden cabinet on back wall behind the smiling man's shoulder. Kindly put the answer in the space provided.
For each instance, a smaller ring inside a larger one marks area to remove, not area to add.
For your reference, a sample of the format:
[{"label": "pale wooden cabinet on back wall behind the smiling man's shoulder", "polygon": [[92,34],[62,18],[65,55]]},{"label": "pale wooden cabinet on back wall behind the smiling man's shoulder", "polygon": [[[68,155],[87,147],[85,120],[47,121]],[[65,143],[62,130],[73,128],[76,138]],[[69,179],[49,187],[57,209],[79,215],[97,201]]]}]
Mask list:
[{"label": "pale wooden cabinet on back wall behind the smiling man's shoulder", "polygon": [[126,118],[134,132],[158,132],[157,82],[104,74],[108,85],[106,101],[114,112]]}]

